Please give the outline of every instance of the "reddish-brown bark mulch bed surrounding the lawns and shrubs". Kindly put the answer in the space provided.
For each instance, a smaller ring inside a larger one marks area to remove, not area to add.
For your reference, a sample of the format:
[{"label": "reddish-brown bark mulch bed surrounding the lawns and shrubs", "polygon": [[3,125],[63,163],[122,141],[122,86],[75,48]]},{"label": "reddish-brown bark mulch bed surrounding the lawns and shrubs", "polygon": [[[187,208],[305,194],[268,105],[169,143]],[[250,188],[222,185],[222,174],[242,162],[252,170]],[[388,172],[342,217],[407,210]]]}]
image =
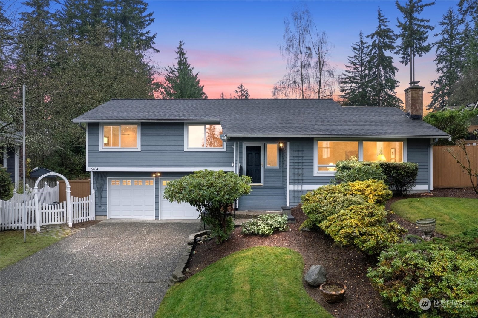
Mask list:
[{"label": "reddish-brown bark mulch bed surrounding the lawns and shrubs", "polygon": [[[434,196],[446,196],[457,198],[478,198],[473,189],[436,189]],[[410,197],[422,197],[421,194],[412,194]],[[393,198],[390,203],[403,198]],[[334,245],[333,240],[325,233],[299,232],[298,228],[306,219],[300,207],[293,208],[292,214],[296,223],[289,224],[287,232],[274,233],[268,237],[258,235],[243,235],[238,227],[231,234],[228,241],[221,245],[209,241],[196,244],[195,254],[192,254],[187,268],[186,277],[190,277],[201,271],[211,263],[231,253],[252,246],[281,246],[291,248],[304,257],[304,275],[312,265],[324,265],[327,270],[327,281],[337,281],[347,286],[345,299],[337,304],[327,304],[319,288],[309,286],[305,281],[304,288],[317,303],[324,307],[335,317],[392,317],[392,313],[383,307],[380,295],[369,283],[365,276],[367,268],[374,266],[375,262],[366,259],[363,254],[350,248],[341,248]],[[393,215],[393,219],[409,230],[410,234],[422,235],[413,223]],[[438,235],[437,235],[438,236]],[[272,265],[273,266],[273,265]]]}]

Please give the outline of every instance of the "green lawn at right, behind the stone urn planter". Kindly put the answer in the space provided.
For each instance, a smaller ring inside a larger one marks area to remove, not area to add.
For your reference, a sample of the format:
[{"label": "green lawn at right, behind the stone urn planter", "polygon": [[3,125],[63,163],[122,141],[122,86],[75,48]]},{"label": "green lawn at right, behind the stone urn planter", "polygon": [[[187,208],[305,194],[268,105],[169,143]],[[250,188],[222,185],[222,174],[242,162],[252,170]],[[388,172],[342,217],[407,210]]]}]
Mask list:
[{"label": "green lawn at right, behind the stone urn planter", "polygon": [[461,233],[478,226],[478,199],[403,199],[392,203],[391,210],[410,222],[423,218],[436,219],[435,231],[445,235]]}]

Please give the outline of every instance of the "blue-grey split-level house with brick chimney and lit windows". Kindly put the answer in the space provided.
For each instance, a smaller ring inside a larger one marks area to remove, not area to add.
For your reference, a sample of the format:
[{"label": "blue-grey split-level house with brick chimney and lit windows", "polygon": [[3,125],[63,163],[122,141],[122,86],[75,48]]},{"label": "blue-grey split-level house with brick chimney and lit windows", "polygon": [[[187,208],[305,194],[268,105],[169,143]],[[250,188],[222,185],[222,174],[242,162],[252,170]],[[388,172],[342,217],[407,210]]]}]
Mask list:
[{"label": "blue-grey split-level house with brick chimney and lit windows", "polygon": [[431,189],[431,144],[449,136],[420,120],[423,87],[406,96],[408,117],[394,107],[327,99],[113,99],[73,121],[87,124],[98,216],[196,219],[194,207],[163,199],[163,191],[202,169],[252,178],[239,210],[295,206],[351,157],[416,162],[414,190]]}]

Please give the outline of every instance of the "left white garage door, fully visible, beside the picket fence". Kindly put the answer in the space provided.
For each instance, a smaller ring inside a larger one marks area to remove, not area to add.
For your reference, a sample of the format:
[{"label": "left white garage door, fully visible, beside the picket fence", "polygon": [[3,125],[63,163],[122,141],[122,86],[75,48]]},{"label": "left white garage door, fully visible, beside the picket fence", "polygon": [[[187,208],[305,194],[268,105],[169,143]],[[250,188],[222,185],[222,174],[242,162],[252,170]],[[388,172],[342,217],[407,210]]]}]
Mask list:
[{"label": "left white garage door, fully visible, beside the picket fence", "polygon": [[108,178],[110,219],[154,219],[154,179]]}]

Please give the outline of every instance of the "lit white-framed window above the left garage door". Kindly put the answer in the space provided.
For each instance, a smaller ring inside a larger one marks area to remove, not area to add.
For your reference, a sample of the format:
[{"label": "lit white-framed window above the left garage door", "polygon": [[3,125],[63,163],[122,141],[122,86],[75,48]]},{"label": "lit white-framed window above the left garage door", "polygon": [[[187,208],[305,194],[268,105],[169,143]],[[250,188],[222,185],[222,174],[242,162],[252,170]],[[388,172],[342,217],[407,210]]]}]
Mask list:
[{"label": "lit white-framed window above the left garage door", "polygon": [[140,149],[140,126],[138,124],[103,125],[100,150]]}]

